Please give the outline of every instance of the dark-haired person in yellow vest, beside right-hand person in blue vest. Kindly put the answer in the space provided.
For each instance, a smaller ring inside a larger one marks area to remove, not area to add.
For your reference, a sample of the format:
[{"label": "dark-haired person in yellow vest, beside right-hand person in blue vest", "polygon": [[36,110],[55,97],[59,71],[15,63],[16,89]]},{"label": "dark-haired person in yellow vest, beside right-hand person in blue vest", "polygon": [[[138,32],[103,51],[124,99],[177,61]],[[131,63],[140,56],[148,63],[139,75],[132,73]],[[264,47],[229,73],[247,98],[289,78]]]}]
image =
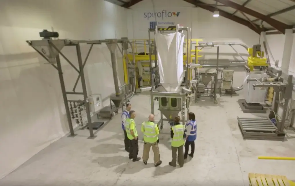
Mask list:
[{"label": "dark-haired person in yellow vest, beside right-hand person in blue vest", "polygon": [[176,167],[176,157],[178,155],[178,164],[180,167],[183,167],[184,164],[184,154],[183,154],[183,145],[184,145],[184,131],[185,126],[180,122],[180,117],[176,116],[174,118],[174,126],[171,127],[171,150],[172,150],[172,161],[169,162],[169,165]]}]

